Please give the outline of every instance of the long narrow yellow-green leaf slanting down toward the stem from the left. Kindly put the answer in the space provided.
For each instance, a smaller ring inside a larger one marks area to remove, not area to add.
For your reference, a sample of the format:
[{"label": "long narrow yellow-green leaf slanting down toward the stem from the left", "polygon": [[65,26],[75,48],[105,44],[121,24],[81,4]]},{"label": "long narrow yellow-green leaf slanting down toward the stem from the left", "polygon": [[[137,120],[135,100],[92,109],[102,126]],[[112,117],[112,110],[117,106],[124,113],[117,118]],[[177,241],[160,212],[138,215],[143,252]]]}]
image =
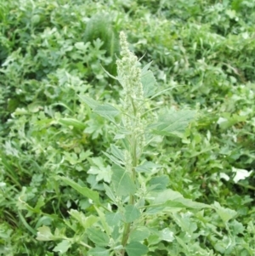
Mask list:
[{"label": "long narrow yellow-green leaf slanting down toward the stem from the left", "polygon": [[66,177],[61,177],[61,176],[56,176],[58,179],[61,179],[65,182],[66,185],[70,185],[73,189],[75,189],[77,192],[82,194],[82,196],[86,196],[89,199],[93,200],[94,203],[100,204],[99,201],[99,193],[96,191],[92,191],[88,189],[87,187],[82,187],[81,185],[78,185],[75,181],[72,179],[66,178]]}]

